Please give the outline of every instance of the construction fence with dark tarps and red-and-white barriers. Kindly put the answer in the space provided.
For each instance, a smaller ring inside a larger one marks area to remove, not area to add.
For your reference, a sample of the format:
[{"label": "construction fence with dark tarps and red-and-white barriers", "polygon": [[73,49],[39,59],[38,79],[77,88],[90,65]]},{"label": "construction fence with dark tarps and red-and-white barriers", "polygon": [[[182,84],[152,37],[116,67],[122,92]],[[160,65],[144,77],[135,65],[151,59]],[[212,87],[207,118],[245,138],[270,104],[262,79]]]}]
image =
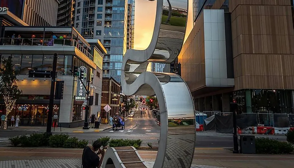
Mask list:
[{"label": "construction fence with dark tarps and red-and-white barriers", "polygon": [[[197,131],[233,133],[233,113],[196,112]],[[239,134],[285,134],[294,129],[294,114],[242,113],[236,115]]]}]

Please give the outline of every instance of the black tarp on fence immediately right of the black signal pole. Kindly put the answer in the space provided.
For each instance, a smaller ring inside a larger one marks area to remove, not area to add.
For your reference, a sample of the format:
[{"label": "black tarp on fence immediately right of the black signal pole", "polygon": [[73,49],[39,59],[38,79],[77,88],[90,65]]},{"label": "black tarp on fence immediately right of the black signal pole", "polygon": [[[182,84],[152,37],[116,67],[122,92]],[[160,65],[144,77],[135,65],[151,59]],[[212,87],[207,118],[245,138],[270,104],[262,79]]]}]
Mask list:
[{"label": "black tarp on fence immediately right of the black signal pole", "polygon": [[241,129],[256,127],[257,115],[255,113],[243,113],[236,115],[237,126]]}]

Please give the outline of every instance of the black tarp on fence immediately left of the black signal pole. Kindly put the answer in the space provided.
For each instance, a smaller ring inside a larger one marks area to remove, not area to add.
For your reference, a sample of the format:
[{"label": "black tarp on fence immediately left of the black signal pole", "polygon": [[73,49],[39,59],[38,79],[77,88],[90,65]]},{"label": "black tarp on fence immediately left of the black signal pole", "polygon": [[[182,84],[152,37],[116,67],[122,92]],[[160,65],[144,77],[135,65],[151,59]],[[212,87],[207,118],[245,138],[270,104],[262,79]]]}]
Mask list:
[{"label": "black tarp on fence immediately left of the black signal pole", "polygon": [[215,114],[216,132],[233,133],[233,114],[220,116]]}]

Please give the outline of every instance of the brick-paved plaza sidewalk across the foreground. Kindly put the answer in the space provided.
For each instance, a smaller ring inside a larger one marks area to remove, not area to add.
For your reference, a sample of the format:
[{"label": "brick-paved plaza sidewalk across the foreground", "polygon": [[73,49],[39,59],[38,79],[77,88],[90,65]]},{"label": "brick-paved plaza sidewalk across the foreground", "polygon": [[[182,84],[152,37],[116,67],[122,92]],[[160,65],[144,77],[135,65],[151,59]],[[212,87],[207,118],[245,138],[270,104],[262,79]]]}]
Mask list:
[{"label": "brick-paved plaza sidewalk across the foreground", "polygon": [[[138,152],[148,164],[155,161],[157,151]],[[14,167],[18,163],[28,167],[76,167],[81,163],[81,155],[82,149],[0,147],[0,168],[7,167],[4,163]],[[294,155],[233,154],[222,148],[196,148],[193,159],[193,167],[201,168],[277,168],[293,164]]]}]

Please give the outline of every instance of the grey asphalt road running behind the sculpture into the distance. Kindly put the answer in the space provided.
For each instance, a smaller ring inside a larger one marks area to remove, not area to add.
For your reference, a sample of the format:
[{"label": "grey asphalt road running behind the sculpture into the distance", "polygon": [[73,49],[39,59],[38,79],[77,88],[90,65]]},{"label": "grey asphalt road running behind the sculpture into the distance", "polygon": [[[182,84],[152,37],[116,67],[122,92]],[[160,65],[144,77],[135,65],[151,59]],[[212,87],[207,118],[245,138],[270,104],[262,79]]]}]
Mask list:
[{"label": "grey asphalt road running behind the sculpture into the distance", "polygon": [[[31,134],[32,132],[24,131],[2,131],[0,130],[0,138],[13,137],[17,135]],[[142,145],[147,146],[147,142],[152,143],[153,146],[158,145],[160,135],[160,126],[155,122],[155,118],[151,111],[136,111],[133,118],[129,118],[125,123],[125,129],[112,131],[112,129],[104,130],[101,132],[85,132],[85,133],[68,133],[72,137],[88,140],[90,143],[100,137],[108,136],[113,139],[141,139]],[[256,135],[263,136],[266,135]],[[286,141],[285,136],[269,135],[269,138]],[[196,134],[196,147],[213,147],[213,148],[230,148],[233,147],[233,136],[223,135],[213,132],[197,132]]]}]

